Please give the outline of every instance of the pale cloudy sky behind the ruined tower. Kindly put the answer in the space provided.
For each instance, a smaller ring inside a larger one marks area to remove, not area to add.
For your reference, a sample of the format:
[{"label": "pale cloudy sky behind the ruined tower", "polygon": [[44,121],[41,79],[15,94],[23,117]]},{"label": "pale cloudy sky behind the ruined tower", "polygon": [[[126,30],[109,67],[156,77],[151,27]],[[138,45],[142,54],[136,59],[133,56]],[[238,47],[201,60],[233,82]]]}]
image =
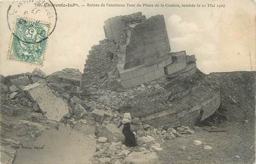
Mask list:
[{"label": "pale cloudy sky behind the ruined tower", "polygon": [[[61,1],[53,1],[60,3]],[[162,14],[165,17],[171,51],[186,50],[195,54],[202,72],[256,70],[256,13],[254,1],[62,1],[126,4],[224,4],[225,7],[56,7],[58,20],[47,39],[45,61],[40,67],[51,74],[66,67],[83,72],[91,46],[105,38],[104,20],[116,15],[142,11],[147,18]],[[0,72],[4,76],[32,72],[35,67],[7,59],[11,31],[6,13],[10,1],[0,2]]]}]

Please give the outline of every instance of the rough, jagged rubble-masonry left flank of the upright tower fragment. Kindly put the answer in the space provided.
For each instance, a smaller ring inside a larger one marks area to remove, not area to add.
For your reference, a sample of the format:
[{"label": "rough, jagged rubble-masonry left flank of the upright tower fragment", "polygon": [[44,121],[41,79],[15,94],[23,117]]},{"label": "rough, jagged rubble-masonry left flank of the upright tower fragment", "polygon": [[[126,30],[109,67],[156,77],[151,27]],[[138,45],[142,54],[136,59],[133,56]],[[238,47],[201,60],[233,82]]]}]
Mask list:
[{"label": "rough, jagged rubble-masonry left flank of the upright tower fragment", "polygon": [[86,59],[84,73],[81,77],[81,89],[90,87],[107,87],[106,80],[116,79],[117,46],[114,41],[102,40],[94,45]]}]

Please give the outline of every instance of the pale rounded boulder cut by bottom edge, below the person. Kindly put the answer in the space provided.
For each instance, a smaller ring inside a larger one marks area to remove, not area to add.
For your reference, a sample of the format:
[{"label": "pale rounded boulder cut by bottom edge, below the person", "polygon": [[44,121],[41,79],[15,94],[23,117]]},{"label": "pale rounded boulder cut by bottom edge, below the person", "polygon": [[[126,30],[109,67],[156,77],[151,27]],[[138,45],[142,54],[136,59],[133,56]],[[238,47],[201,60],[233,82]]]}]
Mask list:
[{"label": "pale rounded boulder cut by bottom edge, below the person", "polygon": [[142,152],[132,152],[124,158],[123,164],[160,164],[158,155],[155,152],[144,150]]}]

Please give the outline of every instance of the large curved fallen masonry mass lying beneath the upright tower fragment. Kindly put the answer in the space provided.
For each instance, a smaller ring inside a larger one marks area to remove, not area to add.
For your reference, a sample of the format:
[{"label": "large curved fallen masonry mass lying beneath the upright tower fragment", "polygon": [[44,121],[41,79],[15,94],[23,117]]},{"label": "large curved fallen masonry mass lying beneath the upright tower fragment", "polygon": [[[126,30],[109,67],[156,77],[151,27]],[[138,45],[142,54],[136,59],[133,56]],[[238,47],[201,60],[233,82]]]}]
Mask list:
[{"label": "large curved fallen masonry mass lying beneath the upright tower fragment", "polygon": [[[121,111],[129,111],[132,117],[154,127],[176,127],[194,125],[219,108],[219,88],[209,84],[199,71],[185,79],[163,80],[164,88],[145,91],[125,100]],[[204,111],[202,115],[201,110]]]}]

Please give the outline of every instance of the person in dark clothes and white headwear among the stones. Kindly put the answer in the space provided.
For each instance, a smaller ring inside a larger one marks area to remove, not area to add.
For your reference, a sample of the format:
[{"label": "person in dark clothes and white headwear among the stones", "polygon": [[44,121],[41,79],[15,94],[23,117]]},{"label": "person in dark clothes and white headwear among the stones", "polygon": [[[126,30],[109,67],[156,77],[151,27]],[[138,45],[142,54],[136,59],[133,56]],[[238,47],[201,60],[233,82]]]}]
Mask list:
[{"label": "person in dark clothes and white headwear among the stones", "polygon": [[124,144],[127,147],[134,147],[137,146],[137,140],[135,139],[135,134],[130,131],[130,120],[130,113],[124,113],[124,118],[122,119],[118,127],[122,126],[122,124],[124,125],[124,128],[122,129],[122,133],[125,137]]}]

